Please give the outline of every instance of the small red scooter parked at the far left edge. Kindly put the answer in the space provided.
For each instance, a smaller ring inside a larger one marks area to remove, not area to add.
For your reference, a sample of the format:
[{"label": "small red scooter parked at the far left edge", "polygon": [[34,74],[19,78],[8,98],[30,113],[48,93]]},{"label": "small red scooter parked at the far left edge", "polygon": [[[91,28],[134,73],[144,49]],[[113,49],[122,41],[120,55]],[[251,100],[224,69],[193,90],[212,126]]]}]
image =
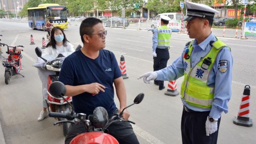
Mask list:
[{"label": "small red scooter parked at the far left edge", "polygon": [[3,58],[2,61],[2,65],[5,67],[4,82],[9,84],[10,78],[14,75],[21,75],[22,77],[25,77],[24,75],[20,74],[20,71],[24,68],[24,66],[21,64],[21,51],[23,51],[22,48],[24,48],[24,46],[8,46],[4,43],[0,43],[0,46],[7,46],[6,54],[8,54],[8,58]]}]

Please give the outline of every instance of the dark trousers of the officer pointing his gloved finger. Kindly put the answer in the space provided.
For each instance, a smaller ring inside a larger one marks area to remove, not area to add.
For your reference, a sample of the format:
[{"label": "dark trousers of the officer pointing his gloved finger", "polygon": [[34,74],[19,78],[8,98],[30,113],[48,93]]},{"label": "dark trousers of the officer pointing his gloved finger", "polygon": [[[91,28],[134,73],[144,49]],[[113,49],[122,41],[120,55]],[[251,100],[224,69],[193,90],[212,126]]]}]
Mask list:
[{"label": "dark trousers of the officer pointing his gloved finger", "polygon": [[206,136],[205,122],[208,112],[186,112],[183,108],[181,118],[182,144],[217,144],[220,118],[218,120],[218,130],[210,136]]}]

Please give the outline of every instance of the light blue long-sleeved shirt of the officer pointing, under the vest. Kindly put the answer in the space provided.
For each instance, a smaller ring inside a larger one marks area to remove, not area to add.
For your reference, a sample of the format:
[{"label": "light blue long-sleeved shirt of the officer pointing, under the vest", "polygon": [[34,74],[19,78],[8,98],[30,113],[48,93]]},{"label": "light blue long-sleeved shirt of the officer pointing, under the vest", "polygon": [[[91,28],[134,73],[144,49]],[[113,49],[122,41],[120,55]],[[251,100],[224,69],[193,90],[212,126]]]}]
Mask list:
[{"label": "light blue long-sleeved shirt of the officer pointing, under the vest", "polygon": [[[209,43],[212,40],[216,41],[213,33],[211,33],[200,44],[197,44],[196,40],[193,41],[192,45],[194,49],[190,56],[192,67],[194,67],[195,64],[197,64],[201,58],[204,58],[204,56],[206,56],[206,54],[210,51],[211,46]],[[185,48],[188,48],[188,46]],[[172,63],[171,66],[156,71],[158,74],[156,80],[176,80],[183,76],[185,68],[183,62],[183,54],[184,51],[182,52],[182,55]],[[226,62],[227,64],[226,71],[220,69],[220,63],[223,62]],[[231,56],[231,52],[228,48],[223,48],[220,50],[218,56],[216,57],[207,83],[208,86],[215,86],[212,109],[210,110],[209,114],[209,116],[212,116],[213,118],[220,118],[222,112],[228,112],[227,104],[231,97],[232,66],[233,58]],[[206,111],[204,109],[200,109],[187,104],[184,99],[182,99],[182,103],[191,110],[200,112]]]}]

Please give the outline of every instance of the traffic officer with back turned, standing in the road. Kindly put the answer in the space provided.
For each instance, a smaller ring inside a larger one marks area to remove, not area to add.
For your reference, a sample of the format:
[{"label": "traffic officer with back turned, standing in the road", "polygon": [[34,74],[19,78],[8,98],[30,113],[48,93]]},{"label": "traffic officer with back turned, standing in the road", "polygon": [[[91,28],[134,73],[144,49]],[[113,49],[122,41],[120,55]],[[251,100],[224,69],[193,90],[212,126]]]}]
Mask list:
[{"label": "traffic officer with back turned, standing in the road", "polygon": [[[168,16],[161,15],[161,26],[155,29],[148,29],[153,32],[153,59],[154,71],[166,68],[167,61],[169,60],[170,39],[172,30],[167,27],[171,20]],[[154,84],[159,86],[159,90],[164,89],[164,81],[154,80]]]}]

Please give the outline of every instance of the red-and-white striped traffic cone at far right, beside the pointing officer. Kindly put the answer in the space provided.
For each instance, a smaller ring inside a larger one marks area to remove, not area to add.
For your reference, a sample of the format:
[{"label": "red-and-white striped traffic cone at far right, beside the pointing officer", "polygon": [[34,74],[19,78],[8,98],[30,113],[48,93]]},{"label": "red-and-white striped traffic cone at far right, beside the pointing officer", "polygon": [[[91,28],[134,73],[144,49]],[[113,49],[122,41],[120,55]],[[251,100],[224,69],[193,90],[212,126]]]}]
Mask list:
[{"label": "red-and-white striped traffic cone at far right, beside the pointing officer", "polygon": [[240,109],[238,116],[233,120],[233,123],[240,126],[252,126],[252,119],[250,119],[250,86],[246,85],[244,87],[244,93],[242,97],[242,102],[240,104]]}]

